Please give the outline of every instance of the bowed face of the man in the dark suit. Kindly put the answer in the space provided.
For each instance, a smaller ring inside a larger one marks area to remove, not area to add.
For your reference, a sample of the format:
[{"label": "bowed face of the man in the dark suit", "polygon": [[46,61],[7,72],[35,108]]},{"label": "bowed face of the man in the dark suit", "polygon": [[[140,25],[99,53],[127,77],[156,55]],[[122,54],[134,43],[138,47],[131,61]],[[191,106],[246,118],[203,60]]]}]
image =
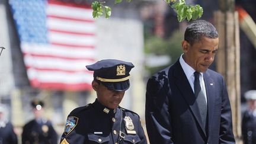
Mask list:
[{"label": "bowed face of the man in the dark suit", "polygon": [[202,37],[200,41],[195,42],[193,45],[184,40],[182,43],[183,58],[197,72],[205,72],[215,58],[218,44],[219,38]]}]

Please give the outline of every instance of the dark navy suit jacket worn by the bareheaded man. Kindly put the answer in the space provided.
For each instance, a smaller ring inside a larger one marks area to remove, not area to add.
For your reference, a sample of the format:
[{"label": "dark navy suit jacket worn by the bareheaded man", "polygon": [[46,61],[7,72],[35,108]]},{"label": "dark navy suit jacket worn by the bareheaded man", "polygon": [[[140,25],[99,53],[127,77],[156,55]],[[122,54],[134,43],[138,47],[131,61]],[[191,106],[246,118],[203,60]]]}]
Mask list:
[{"label": "dark navy suit jacket worn by the bareheaded man", "polygon": [[223,77],[204,72],[207,126],[203,128],[196,97],[179,60],[153,75],[146,89],[146,128],[151,144],[235,143],[231,106]]}]

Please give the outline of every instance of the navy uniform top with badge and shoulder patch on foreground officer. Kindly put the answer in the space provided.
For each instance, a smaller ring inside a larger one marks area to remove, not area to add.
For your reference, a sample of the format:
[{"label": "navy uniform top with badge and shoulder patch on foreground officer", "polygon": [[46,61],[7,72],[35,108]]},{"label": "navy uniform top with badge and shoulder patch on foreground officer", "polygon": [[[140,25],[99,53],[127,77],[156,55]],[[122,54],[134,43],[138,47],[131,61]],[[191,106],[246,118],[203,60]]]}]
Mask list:
[{"label": "navy uniform top with badge and shoulder patch on foreground officer", "polygon": [[[125,126],[121,130],[123,117]],[[120,130],[124,136],[123,143],[147,143],[140,118],[136,113],[121,107],[108,109],[96,99],[94,103],[75,108],[69,114],[60,143],[113,144],[118,142]]]}]

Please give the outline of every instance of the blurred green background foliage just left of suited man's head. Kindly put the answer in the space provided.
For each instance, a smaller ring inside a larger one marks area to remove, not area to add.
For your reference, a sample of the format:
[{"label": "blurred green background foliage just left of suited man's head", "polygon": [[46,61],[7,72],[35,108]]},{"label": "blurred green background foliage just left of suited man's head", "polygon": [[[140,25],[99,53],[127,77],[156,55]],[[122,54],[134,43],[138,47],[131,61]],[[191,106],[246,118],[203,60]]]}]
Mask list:
[{"label": "blurred green background foliage just left of suited man's head", "polygon": [[183,40],[183,33],[180,30],[175,30],[171,37],[168,39],[162,39],[153,35],[146,34],[145,36],[145,53],[154,54],[156,56],[168,55],[171,57],[171,62],[167,65],[162,65],[158,67],[148,67],[146,70],[149,71],[149,75],[172,65],[181,56],[183,50],[181,49],[181,41]]}]

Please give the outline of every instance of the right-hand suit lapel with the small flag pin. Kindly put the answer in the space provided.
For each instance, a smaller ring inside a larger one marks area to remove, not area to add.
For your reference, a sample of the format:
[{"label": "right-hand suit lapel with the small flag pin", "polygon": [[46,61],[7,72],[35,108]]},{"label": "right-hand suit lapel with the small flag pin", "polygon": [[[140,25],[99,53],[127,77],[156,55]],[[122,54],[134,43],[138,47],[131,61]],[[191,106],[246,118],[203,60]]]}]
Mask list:
[{"label": "right-hand suit lapel with the small flag pin", "polygon": [[206,87],[206,95],[207,95],[207,112],[208,112],[208,133],[210,133],[211,127],[210,124],[213,120],[213,113],[215,108],[215,87],[216,84],[212,78],[210,78],[210,73],[204,73],[204,85]]}]

